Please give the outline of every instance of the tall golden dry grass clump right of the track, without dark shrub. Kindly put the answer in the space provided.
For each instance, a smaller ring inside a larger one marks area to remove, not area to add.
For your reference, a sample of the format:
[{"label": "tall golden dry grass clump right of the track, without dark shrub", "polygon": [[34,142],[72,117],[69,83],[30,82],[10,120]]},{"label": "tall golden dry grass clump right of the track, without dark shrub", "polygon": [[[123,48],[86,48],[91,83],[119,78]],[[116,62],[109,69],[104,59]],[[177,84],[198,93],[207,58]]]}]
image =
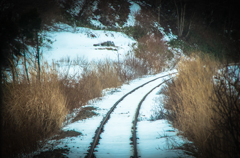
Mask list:
[{"label": "tall golden dry grass clump right of the track, without dark shrub", "polygon": [[[206,65],[210,59],[203,62],[200,58],[182,60],[178,65],[179,75],[169,87],[166,108],[173,111],[174,124],[180,126],[186,135],[201,133],[211,127],[210,96],[214,95],[211,78],[216,65]],[[205,68],[204,68],[205,67]],[[197,115],[196,115],[197,112]],[[210,126],[209,126],[210,125]],[[204,141],[204,140],[203,140]]]}]

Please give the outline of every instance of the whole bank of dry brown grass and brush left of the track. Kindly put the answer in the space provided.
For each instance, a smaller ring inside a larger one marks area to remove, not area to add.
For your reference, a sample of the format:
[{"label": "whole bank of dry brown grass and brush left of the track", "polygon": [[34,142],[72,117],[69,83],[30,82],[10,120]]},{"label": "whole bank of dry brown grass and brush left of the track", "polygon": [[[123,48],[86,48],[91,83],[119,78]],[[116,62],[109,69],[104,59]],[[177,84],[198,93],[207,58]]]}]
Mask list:
[{"label": "whole bank of dry brown grass and brush left of the track", "polygon": [[66,58],[52,66],[42,63],[40,80],[37,66],[32,62],[27,71],[24,65],[5,71],[2,149],[6,157],[21,157],[40,148],[61,128],[68,112],[101,97],[103,89],[160,71],[131,53],[118,62]]}]

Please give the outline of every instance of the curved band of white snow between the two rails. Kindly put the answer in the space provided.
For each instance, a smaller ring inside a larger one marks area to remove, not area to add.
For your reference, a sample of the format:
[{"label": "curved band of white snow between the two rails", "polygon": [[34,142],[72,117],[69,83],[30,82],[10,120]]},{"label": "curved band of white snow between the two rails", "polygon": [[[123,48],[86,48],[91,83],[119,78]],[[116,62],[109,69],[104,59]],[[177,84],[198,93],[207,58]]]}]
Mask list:
[{"label": "curved band of white snow between the two rails", "polygon": [[163,82],[163,79],[168,78],[169,76],[166,76],[150,82],[128,95],[117,105],[104,126],[104,132],[96,147],[97,152],[94,153],[96,157],[130,157],[133,155],[130,138],[137,106],[148,91]]}]

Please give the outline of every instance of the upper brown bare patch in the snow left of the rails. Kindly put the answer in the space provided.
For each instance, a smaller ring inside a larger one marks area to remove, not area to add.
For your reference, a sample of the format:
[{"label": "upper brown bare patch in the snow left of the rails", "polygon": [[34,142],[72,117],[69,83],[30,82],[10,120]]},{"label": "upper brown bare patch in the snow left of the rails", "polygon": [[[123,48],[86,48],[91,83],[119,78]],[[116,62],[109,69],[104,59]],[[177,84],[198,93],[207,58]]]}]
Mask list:
[{"label": "upper brown bare patch in the snow left of the rails", "polygon": [[87,118],[91,118],[93,116],[98,115],[96,112],[94,112],[93,110],[96,110],[95,107],[85,107],[83,108],[78,114],[77,116],[72,120],[72,122],[76,122],[78,120],[84,120]]}]

